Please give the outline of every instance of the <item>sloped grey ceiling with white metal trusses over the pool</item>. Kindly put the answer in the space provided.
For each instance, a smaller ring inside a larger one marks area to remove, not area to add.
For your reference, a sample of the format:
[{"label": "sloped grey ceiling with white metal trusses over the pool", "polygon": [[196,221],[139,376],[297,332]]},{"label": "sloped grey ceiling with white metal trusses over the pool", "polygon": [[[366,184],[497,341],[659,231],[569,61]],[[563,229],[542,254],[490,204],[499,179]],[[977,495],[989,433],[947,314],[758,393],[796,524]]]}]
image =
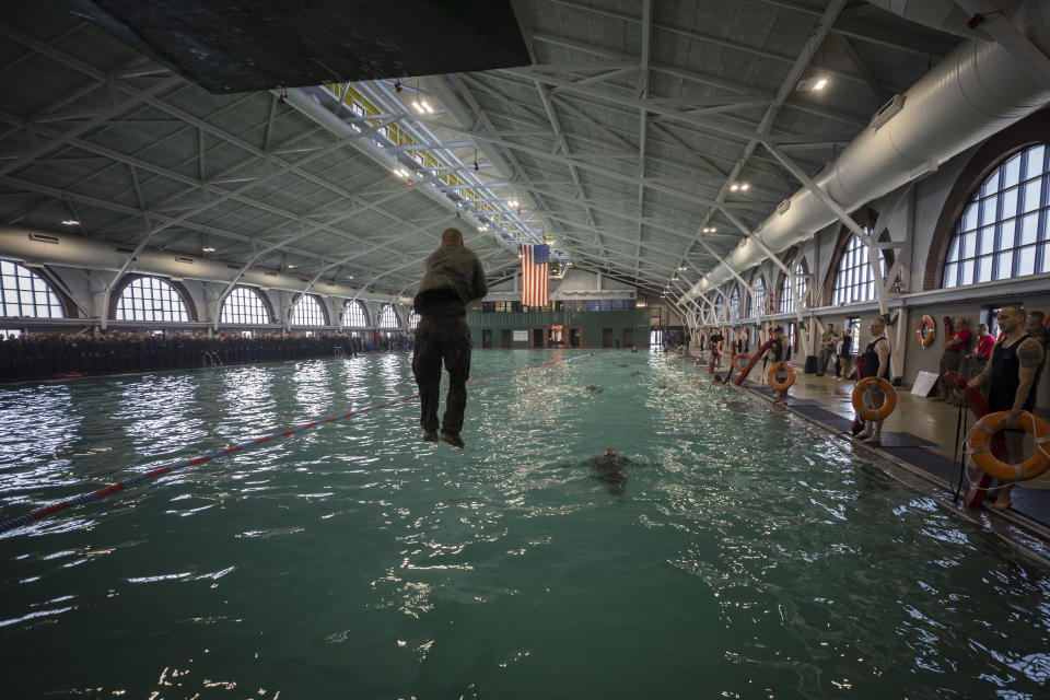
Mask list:
[{"label": "sloped grey ceiling with white metal trusses over the pool", "polygon": [[[295,94],[318,121],[277,92],[211,95],[59,8],[15,4],[0,222],[389,294],[457,222],[493,280],[517,243],[548,242],[676,294],[958,40],[861,0],[515,0],[532,65],[445,77],[458,104],[422,114],[427,81],[332,75]],[[796,89],[815,75],[825,91]]]}]

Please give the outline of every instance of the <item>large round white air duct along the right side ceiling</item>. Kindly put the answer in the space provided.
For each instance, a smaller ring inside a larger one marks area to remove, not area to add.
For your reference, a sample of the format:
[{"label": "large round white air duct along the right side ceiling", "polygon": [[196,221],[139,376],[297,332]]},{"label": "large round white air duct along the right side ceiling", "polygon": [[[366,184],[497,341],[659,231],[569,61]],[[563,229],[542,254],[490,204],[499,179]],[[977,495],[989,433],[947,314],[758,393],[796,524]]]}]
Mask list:
[{"label": "large round white air duct along the right side ceiling", "polygon": [[[937,16],[940,9],[941,28],[957,23],[957,14],[948,11],[952,3],[947,1],[876,4],[890,10],[922,5],[926,11],[921,14],[926,20]],[[1050,0],[1022,4],[1010,20],[1039,50],[1050,52]],[[896,100],[902,100],[896,114],[868,126],[813,178],[847,211],[883,197],[1038,110],[1050,102],[1050,91],[1023,70],[1002,44],[982,37],[956,47]],[[782,211],[755,230],[774,253],[813,237],[836,220],[830,209],[805,188],[795,192]],[[762,246],[745,240],[725,262],[743,272],[763,259]],[[690,288],[687,296],[696,298],[731,279],[733,272],[720,264]]]}]

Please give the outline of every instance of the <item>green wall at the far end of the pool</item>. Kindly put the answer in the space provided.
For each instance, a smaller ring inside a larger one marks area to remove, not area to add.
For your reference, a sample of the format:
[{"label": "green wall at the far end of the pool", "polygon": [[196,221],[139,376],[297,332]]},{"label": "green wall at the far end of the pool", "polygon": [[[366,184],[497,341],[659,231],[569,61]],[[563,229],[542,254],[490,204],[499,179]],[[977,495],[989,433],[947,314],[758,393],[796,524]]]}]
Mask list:
[{"label": "green wall at the far end of the pool", "polygon": [[[649,320],[646,307],[632,311],[467,312],[467,325],[476,348],[482,347],[487,330],[491,334],[489,337],[492,339],[492,348],[530,348],[534,347],[534,328],[547,328],[549,331],[550,327],[556,325],[564,327],[565,338],[569,338],[570,328],[580,328],[585,348],[615,347],[617,337],[621,347],[648,348]],[[515,330],[526,331],[527,339],[522,340],[520,337],[514,340]]]}]

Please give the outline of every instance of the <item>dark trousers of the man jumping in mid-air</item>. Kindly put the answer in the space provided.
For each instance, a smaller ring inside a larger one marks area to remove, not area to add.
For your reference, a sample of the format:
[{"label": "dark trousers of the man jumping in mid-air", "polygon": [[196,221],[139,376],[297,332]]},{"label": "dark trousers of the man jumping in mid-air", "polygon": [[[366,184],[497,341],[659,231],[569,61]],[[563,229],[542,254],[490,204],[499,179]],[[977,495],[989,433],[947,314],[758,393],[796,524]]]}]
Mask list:
[{"label": "dark trousers of the man jumping in mid-air", "polygon": [[438,431],[442,361],[450,382],[441,430],[458,438],[467,407],[467,376],[470,374],[470,329],[463,316],[423,316],[416,328],[412,374],[416,375],[422,407],[420,424],[430,432]]}]

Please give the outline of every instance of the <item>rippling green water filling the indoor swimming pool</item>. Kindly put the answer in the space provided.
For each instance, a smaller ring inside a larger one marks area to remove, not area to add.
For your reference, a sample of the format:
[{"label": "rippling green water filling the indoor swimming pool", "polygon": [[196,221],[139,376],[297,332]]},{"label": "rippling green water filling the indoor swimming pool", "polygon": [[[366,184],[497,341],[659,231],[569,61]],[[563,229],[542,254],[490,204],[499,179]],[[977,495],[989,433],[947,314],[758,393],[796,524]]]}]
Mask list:
[{"label": "rippling green water filling the indoor swimming pool", "polygon": [[[1047,569],[695,376],[597,353],[468,387],[464,452],[399,405],[7,533],[0,692],[1050,695]],[[405,354],[2,388],[0,520],[413,392]]]}]

